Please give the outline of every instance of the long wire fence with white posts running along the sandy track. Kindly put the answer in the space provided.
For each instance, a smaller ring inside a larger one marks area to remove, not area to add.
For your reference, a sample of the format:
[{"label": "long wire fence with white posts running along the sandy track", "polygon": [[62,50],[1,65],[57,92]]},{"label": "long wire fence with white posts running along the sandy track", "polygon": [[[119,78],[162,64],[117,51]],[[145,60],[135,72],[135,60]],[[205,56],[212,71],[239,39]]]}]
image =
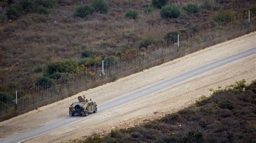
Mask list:
[{"label": "long wire fence with white posts running along the sandy track", "polygon": [[197,33],[191,31],[182,33],[180,35],[179,47],[167,40],[150,48],[135,51],[132,56],[117,63],[105,62],[104,76],[100,76],[102,67],[92,66],[89,70],[94,71],[95,74],[76,73],[69,77],[69,80],[65,80],[65,77],[56,80],[57,85],[51,88],[47,88],[48,85],[32,87],[26,90],[24,95],[21,95],[21,91],[18,90],[17,104],[12,101],[13,99],[1,98],[0,121],[21,115],[40,106],[57,102],[81,91],[95,88],[127,75],[138,73],[144,69],[180,58],[200,49],[237,38],[254,30],[256,30],[256,23],[248,23],[247,21],[225,26],[205,25]]}]

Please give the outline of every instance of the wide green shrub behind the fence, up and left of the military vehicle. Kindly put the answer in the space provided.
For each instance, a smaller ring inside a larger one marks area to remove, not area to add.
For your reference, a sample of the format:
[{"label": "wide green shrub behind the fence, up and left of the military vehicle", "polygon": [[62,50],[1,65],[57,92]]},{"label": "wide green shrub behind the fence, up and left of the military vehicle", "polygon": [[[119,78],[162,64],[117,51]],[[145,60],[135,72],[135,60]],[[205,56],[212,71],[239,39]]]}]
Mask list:
[{"label": "wide green shrub behind the fence, up and left of the military vehicle", "polygon": [[77,63],[74,61],[58,61],[50,63],[47,66],[47,74],[51,75],[53,73],[76,73]]}]

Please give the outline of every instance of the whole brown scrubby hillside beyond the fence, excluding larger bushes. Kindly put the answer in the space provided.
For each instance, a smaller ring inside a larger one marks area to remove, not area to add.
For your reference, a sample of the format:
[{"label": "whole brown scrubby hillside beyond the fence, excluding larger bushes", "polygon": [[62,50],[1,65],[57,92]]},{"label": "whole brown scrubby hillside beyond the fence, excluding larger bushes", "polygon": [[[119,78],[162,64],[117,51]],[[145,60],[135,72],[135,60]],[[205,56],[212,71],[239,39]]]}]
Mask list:
[{"label": "whole brown scrubby hillside beyond the fence, excluding larger bushes", "polygon": [[[162,18],[160,9],[149,8],[151,1],[106,1],[109,8],[106,12],[93,12],[85,18],[74,16],[74,11],[78,5],[90,1],[25,2],[39,7],[32,11],[25,5],[22,14],[14,17],[8,12],[19,2],[3,1],[0,10],[2,16],[3,13],[9,16],[0,27],[0,91],[14,94],[16,89],[22,89],[23,96],[33,85],[46,84],[38,81],[42,76],[53,79],[69,76],[84,68],[100,66],[102,59],[111,63],[129,60],[133,51],[150,49],[149,45],[163,41],[170,31],[197,32],[199,25],[212,22],[212,15],[219,10],[232,11],[237,20],[245,19],[247,9],[255,4],[255,1],[197,2],[199,11],[190,13],[183,8],[190,1],[168,1],[166,5],[177,5],[181,10],[178,18],[170,19]],[[39,8],[47,12],[42,13]],[[136,10],[138,17],[127,17],[128,9]],[[86,57],[91,59],[80,60]],[[60,61],[68,61],[72,67],[48,72],[51,63]],[[57,75],[51,75],[56,71]]]}]

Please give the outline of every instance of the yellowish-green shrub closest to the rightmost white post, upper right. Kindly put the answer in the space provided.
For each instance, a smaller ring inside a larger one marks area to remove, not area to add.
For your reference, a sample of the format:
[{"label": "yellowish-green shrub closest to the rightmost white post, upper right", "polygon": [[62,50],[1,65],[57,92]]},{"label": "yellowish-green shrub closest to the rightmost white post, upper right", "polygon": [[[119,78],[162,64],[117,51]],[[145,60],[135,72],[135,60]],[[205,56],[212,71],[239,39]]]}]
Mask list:
[{"label": "yellowish-green shrub closest to the rightmost white post, upper right", "polygon": [[235,22],[235,15],[231,11],[219,11],[212,16],[213,22],[217,23],[230,23]]}]

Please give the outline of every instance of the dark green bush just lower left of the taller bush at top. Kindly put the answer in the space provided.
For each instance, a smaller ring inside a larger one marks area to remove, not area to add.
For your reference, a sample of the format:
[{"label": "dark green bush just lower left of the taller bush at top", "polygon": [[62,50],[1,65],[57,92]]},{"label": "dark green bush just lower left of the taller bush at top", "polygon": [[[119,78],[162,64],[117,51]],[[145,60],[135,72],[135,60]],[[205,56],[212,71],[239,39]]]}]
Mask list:
[{"label": "dark green bush just lower left of the taller bush at top", "polygon": [[94,11],[95,9],[92,6],[82,5],[82,6],[77,6],[77,8],[75,9],[74,15],[78,17],[86,17],[88,15],[91,15]]}]

